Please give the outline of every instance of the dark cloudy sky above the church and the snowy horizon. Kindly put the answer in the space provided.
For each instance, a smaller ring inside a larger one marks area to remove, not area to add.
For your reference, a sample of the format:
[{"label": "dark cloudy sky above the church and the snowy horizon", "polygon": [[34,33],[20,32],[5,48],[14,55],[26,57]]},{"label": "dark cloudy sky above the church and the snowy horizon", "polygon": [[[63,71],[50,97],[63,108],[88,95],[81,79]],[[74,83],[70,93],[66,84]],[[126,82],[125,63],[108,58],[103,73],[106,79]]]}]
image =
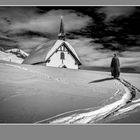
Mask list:
[{"label": "dark cloudy sky above the church and the snowy horizon", "polygon": [[67,41],[86,66],[109,66],[118,53],[122,67],[140,66],[140,7],[0,7],[0,48],[30,53],[56,40],[63,16]]}]

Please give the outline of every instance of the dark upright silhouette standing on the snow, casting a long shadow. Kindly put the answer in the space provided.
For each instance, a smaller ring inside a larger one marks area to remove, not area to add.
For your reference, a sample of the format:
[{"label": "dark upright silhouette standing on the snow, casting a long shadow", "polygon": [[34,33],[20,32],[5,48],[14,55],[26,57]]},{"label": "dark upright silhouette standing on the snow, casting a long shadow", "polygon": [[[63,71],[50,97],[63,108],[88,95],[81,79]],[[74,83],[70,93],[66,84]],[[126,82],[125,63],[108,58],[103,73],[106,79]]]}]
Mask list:
[{"label": "dark upright silhouette standing on the snow, casting a long shadow", "polygon": [[119,78],[120,76],[120,62],[117,54],[114,54],[112,61],[111,61],[111,75],[114,78]]}]

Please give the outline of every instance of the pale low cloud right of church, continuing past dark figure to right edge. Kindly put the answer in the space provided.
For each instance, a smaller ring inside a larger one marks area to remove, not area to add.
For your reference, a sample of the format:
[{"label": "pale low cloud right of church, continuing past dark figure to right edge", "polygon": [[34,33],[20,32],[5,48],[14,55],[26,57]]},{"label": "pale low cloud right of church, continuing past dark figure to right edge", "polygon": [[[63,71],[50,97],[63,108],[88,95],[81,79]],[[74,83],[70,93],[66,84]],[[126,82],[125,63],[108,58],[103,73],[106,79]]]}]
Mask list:
[{"label": "pale low cloud right of church, continuing past dark figure to right edge", "polygon": [[[114,51],[102,48],[101,44],[91,43],[91,38],[68,40],[80,56],[83,65],[110,67]],[[118,54],[121,67],[136,67],[140,65],[139,51],[124,51]]]}]

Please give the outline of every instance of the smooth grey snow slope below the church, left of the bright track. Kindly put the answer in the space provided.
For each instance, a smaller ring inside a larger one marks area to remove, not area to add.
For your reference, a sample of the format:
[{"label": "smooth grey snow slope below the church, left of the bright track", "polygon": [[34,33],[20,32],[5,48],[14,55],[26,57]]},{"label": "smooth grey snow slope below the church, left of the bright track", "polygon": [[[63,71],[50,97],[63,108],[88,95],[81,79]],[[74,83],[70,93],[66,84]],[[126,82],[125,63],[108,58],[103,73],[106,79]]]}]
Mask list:
[{"label": "smooth grey snow slope below the church, left of the bright track", "polygon": [[0,122],[35,123],[68,111],[99,107],[118,89],[123,94],[114,80],[90,83],[109,76],[96,71],[0,63]]}]

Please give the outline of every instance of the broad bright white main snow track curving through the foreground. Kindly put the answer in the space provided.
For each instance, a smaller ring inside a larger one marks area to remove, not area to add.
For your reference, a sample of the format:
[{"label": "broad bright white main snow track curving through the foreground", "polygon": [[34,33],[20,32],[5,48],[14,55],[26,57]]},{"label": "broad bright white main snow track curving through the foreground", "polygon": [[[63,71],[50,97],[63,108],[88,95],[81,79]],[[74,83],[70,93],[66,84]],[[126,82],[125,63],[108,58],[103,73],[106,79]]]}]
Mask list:
[{"label": "broad bright white main snow track curving through the foreground", "polygon": [[120,109],[121,107],[125,106],[127,102],[131,98],[130,91],[124,86],[125,94],[122,98],[112,104],[106,105],[98,110],[95,111],[88,111],[86,113],[81,114],[73,114],[68,117],[59,118],[54,121],[51,121],[51,124],[87,124],[93,123],[98,119],[102,119],[109,115],[110,113],[115,112],[116,110]]}]

